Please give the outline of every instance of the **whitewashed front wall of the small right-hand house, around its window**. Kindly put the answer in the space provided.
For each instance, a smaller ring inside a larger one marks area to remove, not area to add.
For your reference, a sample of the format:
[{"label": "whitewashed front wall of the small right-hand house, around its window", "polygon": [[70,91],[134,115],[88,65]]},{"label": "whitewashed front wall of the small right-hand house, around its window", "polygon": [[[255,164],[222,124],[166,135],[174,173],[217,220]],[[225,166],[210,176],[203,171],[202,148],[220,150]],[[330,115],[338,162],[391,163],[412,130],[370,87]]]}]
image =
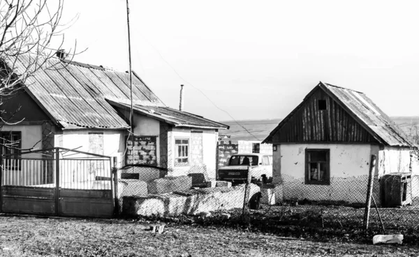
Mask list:
[{"label": "whitewashed front wall of the small right-hand house, around its window", "polygon": [[[306,148],[330,149],[330,185],[305,185]],[[280,144],[274,152],[274,182],[284,199],[365,202],[369,162],[378,150],[369,144]]]}]

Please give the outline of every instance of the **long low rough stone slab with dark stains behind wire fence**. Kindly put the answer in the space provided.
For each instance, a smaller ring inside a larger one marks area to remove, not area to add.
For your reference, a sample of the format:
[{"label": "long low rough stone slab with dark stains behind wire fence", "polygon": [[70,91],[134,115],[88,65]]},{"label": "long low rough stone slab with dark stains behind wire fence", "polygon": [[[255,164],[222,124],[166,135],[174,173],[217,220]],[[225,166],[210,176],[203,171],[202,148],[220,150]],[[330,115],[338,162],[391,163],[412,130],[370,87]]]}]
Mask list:
[{"label": "long low rough stone slab with dark stains behind wire fence", "polygon": [[[122,212],[128,216],[150,215],[198,215],[242,208],[244,185],[193,189],[183,193],[149,194],[148,196],[125,196]],[[249,198],[260,192],[257,185],[249,185]]]}]

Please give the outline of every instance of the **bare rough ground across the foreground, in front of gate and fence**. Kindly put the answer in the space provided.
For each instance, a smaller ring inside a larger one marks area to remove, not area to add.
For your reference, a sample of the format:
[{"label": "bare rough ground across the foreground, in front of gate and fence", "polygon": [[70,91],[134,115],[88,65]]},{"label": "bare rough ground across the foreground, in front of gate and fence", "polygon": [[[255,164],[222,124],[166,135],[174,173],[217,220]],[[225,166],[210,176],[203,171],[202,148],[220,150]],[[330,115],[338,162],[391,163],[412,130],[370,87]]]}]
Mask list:
[{"label": "bare rough ground across the foreground, in front of gate and fence", "polygon": [[0,215],[0,256],[419,256],[419,249],[176,224],[159,234],[134,220]]}]

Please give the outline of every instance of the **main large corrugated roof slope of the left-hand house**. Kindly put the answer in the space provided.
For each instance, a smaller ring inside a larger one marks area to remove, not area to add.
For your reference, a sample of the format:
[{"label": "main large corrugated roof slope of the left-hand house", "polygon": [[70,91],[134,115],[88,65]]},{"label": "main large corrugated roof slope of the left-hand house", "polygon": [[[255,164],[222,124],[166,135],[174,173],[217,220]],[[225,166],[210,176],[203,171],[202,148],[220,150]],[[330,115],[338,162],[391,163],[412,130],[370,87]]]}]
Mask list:
[{"label": "main large corrugated roof slope of the left-hand house", "polygon": [[[17,73],[34,63],[31,54],[22,54],[15,61]],[[38,56],[39,58],[39,56]],[[42,58],[38,60],[42,63]],[[130,99],[128,72],[73,61],[48,61],[45,70],[35,72],[25,81],[27,91],[57,123],[66,127],[121,129],[126,121],[105,100]],[[133,74],[133,102],[164,107],[156,95]]]}]

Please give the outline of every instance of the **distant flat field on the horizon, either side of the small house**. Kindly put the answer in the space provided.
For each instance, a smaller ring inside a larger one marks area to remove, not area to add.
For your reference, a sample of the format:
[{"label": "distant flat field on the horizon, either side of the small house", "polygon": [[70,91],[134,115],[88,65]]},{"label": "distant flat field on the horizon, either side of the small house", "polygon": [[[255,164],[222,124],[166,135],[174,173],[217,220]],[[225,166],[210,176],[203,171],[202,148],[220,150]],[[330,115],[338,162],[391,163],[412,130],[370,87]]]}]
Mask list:
[{"label": "distant flat field on the horizon, either side of the small house", "polygon": [[[221,123],[229,125],[230,130],[220,130],[219,134],[230,135],[231,141],[237,140],[260,140],[265,139],[269,133],[281,122],[281,118],[272,120],[226,120]],[[399,127],[411,136],[419,135],[419,116],[415,117],[392,117]],[[239,124],[237,124],[239,123]],[[247,132],[248,130],[249,132]]]}]

